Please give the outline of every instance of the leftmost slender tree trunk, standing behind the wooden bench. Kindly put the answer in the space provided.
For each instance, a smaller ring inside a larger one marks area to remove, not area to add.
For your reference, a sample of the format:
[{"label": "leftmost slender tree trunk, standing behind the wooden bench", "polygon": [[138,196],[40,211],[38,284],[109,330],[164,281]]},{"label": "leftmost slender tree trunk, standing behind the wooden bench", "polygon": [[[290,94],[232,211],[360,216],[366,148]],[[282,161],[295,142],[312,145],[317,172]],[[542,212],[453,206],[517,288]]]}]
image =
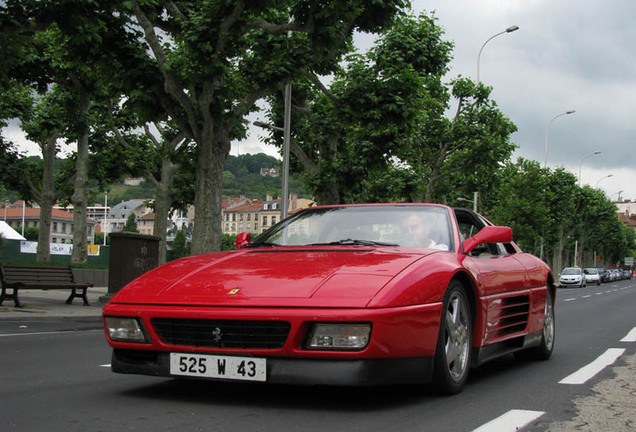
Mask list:
[{"label": "leftmost slender tree trunk, standing behind the wooden bench", "polygon": [[53,164],[55,162],[57,135],[40,144],[44,167],[42,169],[42,191],[39,193],[40,225],[38,228],[37,262],[51,262],[51,214],[55,204]]}]

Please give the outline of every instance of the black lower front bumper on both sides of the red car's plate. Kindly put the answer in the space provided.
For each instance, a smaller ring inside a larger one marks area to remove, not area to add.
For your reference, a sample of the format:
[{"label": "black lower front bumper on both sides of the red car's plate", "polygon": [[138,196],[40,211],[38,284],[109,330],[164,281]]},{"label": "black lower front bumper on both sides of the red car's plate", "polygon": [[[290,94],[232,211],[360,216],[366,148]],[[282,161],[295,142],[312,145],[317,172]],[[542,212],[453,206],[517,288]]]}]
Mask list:
[{"label": "black lower front bumper on both sides of the red car's plate", "polygon": [[[123,374],[170,377],[170,354],[166,352],[114,349],[111,369]],[[404,359],[267,359],[267,382],[271,384],[379,386],[427,383],[433,370],[432,357]]]}]

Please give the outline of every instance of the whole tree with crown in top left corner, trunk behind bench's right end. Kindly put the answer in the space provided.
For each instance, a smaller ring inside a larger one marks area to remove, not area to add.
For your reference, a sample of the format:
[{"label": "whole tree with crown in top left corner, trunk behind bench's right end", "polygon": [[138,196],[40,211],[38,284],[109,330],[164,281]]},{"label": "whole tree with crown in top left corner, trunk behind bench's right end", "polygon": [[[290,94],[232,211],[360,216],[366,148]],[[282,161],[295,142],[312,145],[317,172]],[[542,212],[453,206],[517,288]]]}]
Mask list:
[{"label": "whole tree with crown in top left corner, trunk behind bench's right end", "polygon": [[[51,84],[75,96],[73,122],[64,138],[77,143],[75,172],[70,197],[73,203],[72,262],[85,262],[86,206],[88,200],[88,155],[91,103],[106,85],[122,75],[122,63],[134,33],[127,30],[126,19],[115,13],[113,2],[39,2],[7,1],[0,6],[0,22],[6,24],[0,43],[12,56],[0,85],[16,80],[44,92]],[[3,53],[4,54],[4,53]]]}]

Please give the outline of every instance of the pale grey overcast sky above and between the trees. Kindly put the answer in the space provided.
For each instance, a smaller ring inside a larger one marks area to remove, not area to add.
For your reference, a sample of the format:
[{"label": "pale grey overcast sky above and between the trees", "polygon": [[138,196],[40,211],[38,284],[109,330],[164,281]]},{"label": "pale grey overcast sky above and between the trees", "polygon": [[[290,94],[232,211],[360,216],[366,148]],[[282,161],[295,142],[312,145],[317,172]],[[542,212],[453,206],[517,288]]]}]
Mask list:
[{"label": "pale grey overcast sky above and between the trees", "polygon": [[[412,0],[413,11],[435,11],[446,39],[455,44],[448,80],[480,81],[518,127],[514,158],[563,166],[582,184],[613,200],[636,200],[636,1],[633,0]],[[368,43],[361,39],[360,44]],[[234,143],[232,154],[263,151],[258,129]],[[5,136],[19,142],[18,134]],[[594,155],[600,150],[601,153]],[[607,177],[611,175],[611,177]]]}]

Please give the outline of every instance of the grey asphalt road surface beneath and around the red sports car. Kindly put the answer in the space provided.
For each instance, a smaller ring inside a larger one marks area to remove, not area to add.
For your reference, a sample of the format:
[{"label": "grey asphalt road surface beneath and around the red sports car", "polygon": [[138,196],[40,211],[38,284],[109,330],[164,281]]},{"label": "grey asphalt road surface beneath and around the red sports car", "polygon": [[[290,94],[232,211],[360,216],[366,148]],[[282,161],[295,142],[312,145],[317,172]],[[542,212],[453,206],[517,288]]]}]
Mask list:
[{"label": "grey asphalt road surface beneath and around the red sports car", "polygon": [[[575,415],[574,401],[613,376],[560,383],[622,350],[636,328],[636,279],[561,289],[547,362],[508,356],[471,373],[465,391],[283,387],[172,380],[110,372],[96,319],[0,321],[0,430],[8,431],[544,431]],[[525,420],[520,420],[525,418]],[[498,420],[499,419],[499,420]],[[517,422],[517,423],[514,423]],[[525,425],[525,426],[524,426]]]}]

